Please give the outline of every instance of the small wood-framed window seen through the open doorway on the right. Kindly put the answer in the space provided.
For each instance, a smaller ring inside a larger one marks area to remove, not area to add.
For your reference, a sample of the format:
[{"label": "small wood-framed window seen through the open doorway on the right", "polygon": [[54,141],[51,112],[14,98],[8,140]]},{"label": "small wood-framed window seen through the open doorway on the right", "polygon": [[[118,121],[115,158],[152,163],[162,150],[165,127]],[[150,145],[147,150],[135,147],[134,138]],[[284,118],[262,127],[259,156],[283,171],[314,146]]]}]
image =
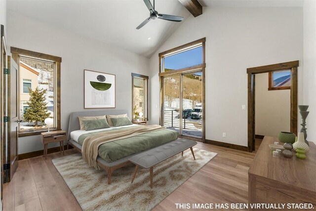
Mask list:
[{"label": "small wood-framed window seen through the open doorway on the right", "polygon": [[269,72],[268,90],[280,90],[291,88],[291,71]]}]

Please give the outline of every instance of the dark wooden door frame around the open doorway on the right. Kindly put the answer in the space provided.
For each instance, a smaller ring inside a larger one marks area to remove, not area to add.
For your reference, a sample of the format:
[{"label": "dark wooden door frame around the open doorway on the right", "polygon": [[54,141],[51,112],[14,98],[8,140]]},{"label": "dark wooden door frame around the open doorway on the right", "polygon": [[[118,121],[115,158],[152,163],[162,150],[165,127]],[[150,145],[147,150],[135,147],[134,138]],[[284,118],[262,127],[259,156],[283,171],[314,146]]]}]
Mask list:
[{"label": "dark wooden door frame around the open doorway on the right", "polygon": [[[255,150],[255,117],[256,117],[256,104],[255,104],[255,78],[256,74],[269,73],[270,76],[274,72],[280,73],[290,71],[290,131],[297,134],[297,67],[299,61],[284,62],[273,65],[266,65],[260,67],[247,68],[248,74],[248,152]],[[283,76],[282,76],[283,77]],[[269,77],[270,78],[270,77]],[[270,83],[279,89],[286,89],[286,80],[280,83],[273,83],[273,78]],[[271,84],[269,84],[271,86]],[[283,87],[281,87],[283,86]],[[271,87],[269,87],[271,88]],[[271,90],[271,89],[269,89]]]}]

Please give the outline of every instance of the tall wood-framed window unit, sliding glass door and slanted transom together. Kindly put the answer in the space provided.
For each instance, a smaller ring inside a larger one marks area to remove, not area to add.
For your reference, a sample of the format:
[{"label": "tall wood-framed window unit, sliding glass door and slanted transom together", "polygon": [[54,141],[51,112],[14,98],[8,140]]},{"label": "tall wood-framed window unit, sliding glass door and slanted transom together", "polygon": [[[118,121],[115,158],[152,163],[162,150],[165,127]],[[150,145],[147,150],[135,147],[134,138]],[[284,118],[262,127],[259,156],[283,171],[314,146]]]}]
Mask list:
[{"label": "tall wood-framed window unit, sliding glass door and slanted transom together", "polygon": [[160,125],[205,139],[205,38],[159,53]]}]

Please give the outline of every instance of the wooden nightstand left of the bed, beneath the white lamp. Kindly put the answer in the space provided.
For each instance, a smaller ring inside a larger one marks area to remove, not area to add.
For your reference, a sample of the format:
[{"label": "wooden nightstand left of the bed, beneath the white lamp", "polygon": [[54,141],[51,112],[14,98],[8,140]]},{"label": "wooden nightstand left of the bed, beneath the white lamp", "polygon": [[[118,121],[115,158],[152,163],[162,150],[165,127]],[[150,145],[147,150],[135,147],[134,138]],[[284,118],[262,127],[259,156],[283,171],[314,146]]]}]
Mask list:
[{"label": "wooden nightstand left of the bed, beneath the white lamp", "polygon": [[64,141],[67,141],[67,132],[64,130],[57,130],[51,132],[42,132],[41,142],[44,144],[44,157],[47,156],[47,146],[48,143],[59,142],[60,153],[64,155]]}]

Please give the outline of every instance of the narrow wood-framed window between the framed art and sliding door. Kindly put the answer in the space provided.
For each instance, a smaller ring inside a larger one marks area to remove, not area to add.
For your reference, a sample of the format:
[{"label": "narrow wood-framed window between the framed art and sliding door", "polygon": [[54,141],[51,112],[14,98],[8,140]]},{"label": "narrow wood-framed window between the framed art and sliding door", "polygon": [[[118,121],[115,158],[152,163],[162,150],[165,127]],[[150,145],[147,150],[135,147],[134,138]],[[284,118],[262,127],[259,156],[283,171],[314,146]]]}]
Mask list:
[{"label": "narrow wood-framed window between the framed art and sliding door", "polygon": [[132,73],[132,111],[133,119],[142,112],[148,120],[148,76]]}]

